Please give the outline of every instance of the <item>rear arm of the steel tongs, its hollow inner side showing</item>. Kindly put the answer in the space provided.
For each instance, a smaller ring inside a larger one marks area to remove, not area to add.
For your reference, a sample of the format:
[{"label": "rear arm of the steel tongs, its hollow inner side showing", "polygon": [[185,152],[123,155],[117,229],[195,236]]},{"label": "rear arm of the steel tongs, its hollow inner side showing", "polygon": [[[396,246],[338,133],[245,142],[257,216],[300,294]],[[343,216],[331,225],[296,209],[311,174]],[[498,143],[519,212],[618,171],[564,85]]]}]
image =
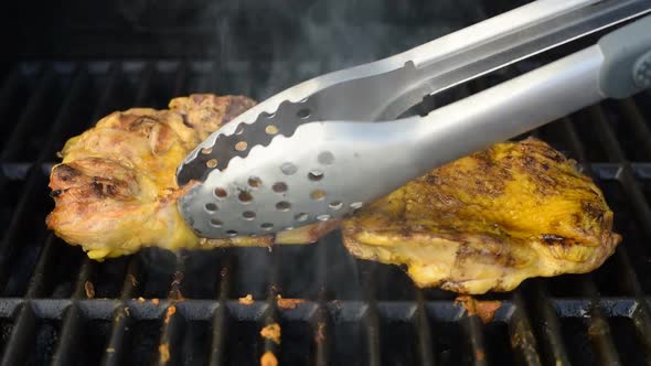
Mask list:
[{"label": "rear arm of the steel tongs, its hollow inner side showing", "polygon": [[[534,1],[388,58],[316,77],[270,97],[210,136],[179,166],[178,181],[204,181],[233,157],[244,158],[252,147],[268,144],[273,136],[265,133],[266,125],[288,136],[314,120],[393,119],[428,94],[649,11],[650,0]],[[299,110],[309,116],[298,117]],[[238,127],[242,134],[234,136]],[[236,150],[239,141],[248,149]],[[205,158],[202,150],[215,159],[214,168],[196,159]]]}]

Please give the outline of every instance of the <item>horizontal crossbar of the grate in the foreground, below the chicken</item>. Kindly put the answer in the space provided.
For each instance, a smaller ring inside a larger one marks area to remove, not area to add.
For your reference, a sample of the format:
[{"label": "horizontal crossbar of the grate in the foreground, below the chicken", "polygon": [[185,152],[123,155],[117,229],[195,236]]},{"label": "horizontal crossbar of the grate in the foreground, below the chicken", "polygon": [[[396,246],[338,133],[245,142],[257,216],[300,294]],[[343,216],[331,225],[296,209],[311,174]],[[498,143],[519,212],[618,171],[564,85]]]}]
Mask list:
[{"label": "horizontal crossbar of the grate in the foreground, below the chicken", "polygon": [[[544,281],[544,279],[541,279]],[[639,302],[634,298],[628,297],[601,297],[597,302],[593,302],[587,298],[554,298],[549,297],[549,304],[557,311],[561,317],[584,316],[585,311],[590,310],[591,306],[599,306],[602,310],[604,316],[630,316],[630,314],[639,306]],[[651,302],[651,297],[644,297],[644,301]],[[65,315],[65,311],[71,305],[71,299],[19,299],[12,298],[8,302],[7,309],[1,309],[2,316],[14,312],[18,314],[23,304],[30,304],[31,308],[39,315],[40,320],[57,321]],[[110,320],[114,310],[119,303],[115,299],[94,299],[94,300],[78,300],[81,309],[84,310],[92,319]],[[154,306],[151,302],[141,302],[136,299],[125,300],[124,303],[132,309],[129,310],[131,319],[156,321],[160,319],[160,312],[169,304],[168,300],[160,300],[160,305]],[[93,308],[96,304],[97,308]],[[306,312],[297,312],[291,315],[291,319],[309,320],[313,315],[313,310],[318,308],[319,303],[316,300],[306,300],[298,309],[307,310]],[[465,315],[465,308],[460,304],[455,304],[447,300],[425,300],[425,309],[428,315],[435,317],[435,322],[457,322],[463,321],[469,316]],[[220,306],[218,300],[199,300],[185,299],[178,303],[178,310],[182,312],[188,320],[192,321],[212,321],[213,313],[210,310]],[[255,304],[244,305],[237,300],[228,300],[227,306],[231,310],[234,319],[253,320],[252,316],[258,314],[260,311],[267,309],[267,303],[264,301],[256,301]],[[383,316],[388,316],[389,320],[404,321],[414,313],[415,304],[408,301],[393,301],[378,300],[376,306],[382,309]],[[510,312],[513,311],[514,304],[511,300],[502,301],[502,306],[495,313],[494,322],[508,321]],[[503,308],[503,309],[502,309]],[[329,311],[338,313],[342,319],[340,321],[351,322],[360,320],[366,309],[366,304],[359,300],[338,300],[335,303],[330,302]],[[152,311],[153,310],[153,311]],[[289,316],[289,315],[288,315]],[[480,320],[480,324],[481,320]]]}]

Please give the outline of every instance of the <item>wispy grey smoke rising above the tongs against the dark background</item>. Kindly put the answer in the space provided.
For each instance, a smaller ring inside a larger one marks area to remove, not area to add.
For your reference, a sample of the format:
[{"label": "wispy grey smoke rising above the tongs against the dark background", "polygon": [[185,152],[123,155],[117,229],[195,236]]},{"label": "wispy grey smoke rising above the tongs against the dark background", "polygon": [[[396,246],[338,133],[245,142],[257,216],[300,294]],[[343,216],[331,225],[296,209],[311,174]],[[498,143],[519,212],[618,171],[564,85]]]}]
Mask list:
[{"label": "wispy grey smoke rising above the tongs against the dark background", "polygon": [[473,1],[243,2],[216,20],[214,57],[232,77],[230,87],[265,99],[469,25],[477,9]]}]

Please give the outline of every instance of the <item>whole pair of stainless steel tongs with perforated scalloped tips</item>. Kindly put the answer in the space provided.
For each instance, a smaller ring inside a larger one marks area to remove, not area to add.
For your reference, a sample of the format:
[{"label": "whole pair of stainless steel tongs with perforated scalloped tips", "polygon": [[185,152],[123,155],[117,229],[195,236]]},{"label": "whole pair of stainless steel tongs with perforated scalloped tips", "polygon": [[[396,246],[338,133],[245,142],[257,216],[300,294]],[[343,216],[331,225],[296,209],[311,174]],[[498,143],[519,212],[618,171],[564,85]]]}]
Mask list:
[{"label": "whole pair of stainless steel tongs with perforated scalloped tips", "polygon": [[[179,208],[207,238],[351,214],[431,170],[607,97],[651,86],[651,0],[541,0],[377,62],[307,80],[242,114],[179,166]],[[608,26],[583,51],[435,109],[424,96]],[[366,123],[365,123],[366,122]],[[367,123],[372,122],[372,123]]]}]

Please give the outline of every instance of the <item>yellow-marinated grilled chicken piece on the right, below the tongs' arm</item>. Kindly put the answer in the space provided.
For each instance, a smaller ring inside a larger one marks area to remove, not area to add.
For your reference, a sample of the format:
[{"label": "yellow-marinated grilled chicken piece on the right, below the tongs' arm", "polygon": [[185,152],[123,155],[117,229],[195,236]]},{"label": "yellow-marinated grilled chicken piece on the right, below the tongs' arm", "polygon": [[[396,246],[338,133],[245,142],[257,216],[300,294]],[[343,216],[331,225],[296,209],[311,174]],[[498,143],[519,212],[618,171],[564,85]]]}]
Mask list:
[{"label": "yellow-marinated grilled chicken piece on the right, below the tongs' arm", "polygon": [[548,144],[499,143],[412,181],[343,223],[356,257],[419,287],[479,294],[588,272],[621,240],[599,189]]}]

